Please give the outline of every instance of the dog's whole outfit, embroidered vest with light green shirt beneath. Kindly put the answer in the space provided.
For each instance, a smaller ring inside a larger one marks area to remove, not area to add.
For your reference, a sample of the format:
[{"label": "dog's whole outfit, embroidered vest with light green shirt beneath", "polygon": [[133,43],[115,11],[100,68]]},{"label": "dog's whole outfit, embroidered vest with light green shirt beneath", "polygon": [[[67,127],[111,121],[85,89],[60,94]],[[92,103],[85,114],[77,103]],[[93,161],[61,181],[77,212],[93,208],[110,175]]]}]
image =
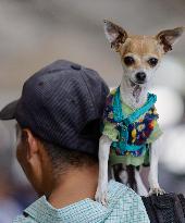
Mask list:
[{"label": "dog's whole outfit, embroidered vest with light green shirt beneath", "polygon": [[149,164],[149,146],[162,135],[155,108],[157,96],[148,94],[147,102],[136,110],[122,102],[120,87],[107,98],[102,134],[111,140],[110,163]]}]

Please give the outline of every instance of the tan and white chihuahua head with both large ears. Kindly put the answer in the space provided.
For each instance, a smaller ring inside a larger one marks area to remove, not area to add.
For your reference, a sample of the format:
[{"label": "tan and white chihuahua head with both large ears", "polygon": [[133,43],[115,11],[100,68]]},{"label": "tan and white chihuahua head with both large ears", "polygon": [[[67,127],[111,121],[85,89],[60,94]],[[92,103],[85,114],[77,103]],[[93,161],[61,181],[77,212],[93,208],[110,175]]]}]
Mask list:
[{"label": "tan and white chihuahua head with both large ears", "polygon": [[156,36],[128,35],[122,27],[104,21],[104,33],[111,47],[120,53],[124,75],[134,85],[149,83],[166,52],[182,36],[184,27],[162,30]]}]

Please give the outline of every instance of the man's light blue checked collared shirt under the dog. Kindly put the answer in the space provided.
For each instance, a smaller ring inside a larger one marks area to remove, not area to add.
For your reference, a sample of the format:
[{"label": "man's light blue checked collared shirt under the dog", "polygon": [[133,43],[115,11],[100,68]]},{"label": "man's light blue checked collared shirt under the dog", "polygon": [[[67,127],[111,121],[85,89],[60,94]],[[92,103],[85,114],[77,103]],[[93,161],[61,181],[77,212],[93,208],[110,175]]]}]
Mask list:
[{"label": "man's light blue checked collared shirt under the dog", "polygon": [[108,186],[108,207],[86,198],[62,209],[55,209],[44,196],[30,205],[24,211],[24,215],[20,215],[13,221],[13,223],[51,222],[149,223],[149,219],[138,195],[125,185],[110,181]]}]

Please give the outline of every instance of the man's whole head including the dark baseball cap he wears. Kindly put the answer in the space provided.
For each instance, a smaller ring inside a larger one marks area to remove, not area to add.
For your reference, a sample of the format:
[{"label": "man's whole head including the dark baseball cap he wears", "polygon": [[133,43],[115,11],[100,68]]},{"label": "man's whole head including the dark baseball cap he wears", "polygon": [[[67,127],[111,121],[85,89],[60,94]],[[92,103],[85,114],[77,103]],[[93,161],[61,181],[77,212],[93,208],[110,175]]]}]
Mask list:
[{"label": "man's whole head including the dark baseball cap he wears", "polygon": [[39,194],[72,169],[97,165],[108,92],[95,71],[57,61],[27,79],[22,97],[0,112],[1,120],[17,121],[17,159]]}]

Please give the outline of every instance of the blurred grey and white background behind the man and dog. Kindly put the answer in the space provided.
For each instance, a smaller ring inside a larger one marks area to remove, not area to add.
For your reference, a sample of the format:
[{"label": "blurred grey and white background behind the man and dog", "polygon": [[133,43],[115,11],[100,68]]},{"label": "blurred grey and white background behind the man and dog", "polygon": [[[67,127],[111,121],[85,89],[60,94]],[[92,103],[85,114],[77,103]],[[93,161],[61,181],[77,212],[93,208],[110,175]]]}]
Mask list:
[{"label": "blurred grey and white background behind the man and dog", "polygon": [[[110,87],[121,82],[120,58],[108,44],[102,20],[128,33],[155,35],[185,26],[184,0],[0,0],[0,109],[21,95],[40,67],[67,59],[97,70]],[[151,91],[164,131],[159,178],[166,191],[185,194],[185,36],[174,46]],[[13,122],[0,122],[0,223],[27,207],[36,195],[15,160]]]}]

